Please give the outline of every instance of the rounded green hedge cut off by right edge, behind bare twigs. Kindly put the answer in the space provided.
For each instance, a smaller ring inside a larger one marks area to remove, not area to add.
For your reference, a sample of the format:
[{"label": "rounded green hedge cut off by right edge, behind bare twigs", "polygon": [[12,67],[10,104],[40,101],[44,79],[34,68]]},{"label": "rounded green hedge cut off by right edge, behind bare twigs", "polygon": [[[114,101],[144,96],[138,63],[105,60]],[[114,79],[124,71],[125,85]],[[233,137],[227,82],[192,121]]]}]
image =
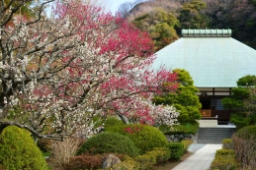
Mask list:
[{"label": "rounded green hedge cut off by right edge, behind bare twigs", "polygon": [[256,125],[250,125],[241,128],[235,133],[236,137],[242,140],[256,140]]}]

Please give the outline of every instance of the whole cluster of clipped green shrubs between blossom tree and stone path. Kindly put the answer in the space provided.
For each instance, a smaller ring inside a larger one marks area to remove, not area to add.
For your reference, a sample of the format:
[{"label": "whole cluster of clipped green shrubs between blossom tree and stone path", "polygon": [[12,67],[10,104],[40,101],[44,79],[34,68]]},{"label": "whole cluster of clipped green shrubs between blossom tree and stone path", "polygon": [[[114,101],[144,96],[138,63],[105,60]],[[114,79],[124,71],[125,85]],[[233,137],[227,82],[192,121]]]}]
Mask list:
[{"label": "whole cluster of clipped green shrubs between blossom tree and stone path", "polygon": [[[184,143],[167,142],[165,136],[154,127],[140,124],[119,125],[118,127],[108,127],[105,129],[105,133],[96,135],[84,142],[77,151],[77,155],[90,155],[88,160],[95,159],[97,162],[98,159],[93,155],[123,153],[128,155],[128,158],[119,166],[129,168],[136,166],[135,169],[149,169],[153,165],[166,162],[169,159],[179,160],[191,144],[191,142]],[[81,162],[84,156],[77,156],[75,159]],[[131,166],[130,163],[133,165]]]}]

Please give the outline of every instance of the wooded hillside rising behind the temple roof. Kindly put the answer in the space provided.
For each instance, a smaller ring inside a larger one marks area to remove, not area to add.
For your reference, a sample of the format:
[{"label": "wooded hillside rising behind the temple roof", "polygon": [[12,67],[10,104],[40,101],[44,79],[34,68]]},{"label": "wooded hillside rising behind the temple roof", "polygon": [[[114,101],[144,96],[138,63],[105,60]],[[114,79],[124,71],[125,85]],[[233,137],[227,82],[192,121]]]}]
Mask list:
[{"label": "wooded hillside rising behind the temple roof", "polygon": [[178,39],[182,28],[230,28],[233,38],[256,49],[256,0],[140,0],[119,11],[149,32],[156,51]]}]

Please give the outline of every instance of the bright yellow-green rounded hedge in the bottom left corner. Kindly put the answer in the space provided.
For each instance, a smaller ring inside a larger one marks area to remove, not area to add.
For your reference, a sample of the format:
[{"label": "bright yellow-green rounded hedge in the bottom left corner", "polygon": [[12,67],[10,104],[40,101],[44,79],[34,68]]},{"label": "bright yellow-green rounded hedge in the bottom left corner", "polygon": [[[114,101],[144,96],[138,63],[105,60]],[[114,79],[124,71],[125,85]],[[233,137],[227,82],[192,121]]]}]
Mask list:
[{"label": "bright yellow-green rounded hedge in the bottom left corner", "polygon": [[47,169],[43,153],[31,134],[16,126],[9,126],[0,134],[0,164],[8,170]]}]

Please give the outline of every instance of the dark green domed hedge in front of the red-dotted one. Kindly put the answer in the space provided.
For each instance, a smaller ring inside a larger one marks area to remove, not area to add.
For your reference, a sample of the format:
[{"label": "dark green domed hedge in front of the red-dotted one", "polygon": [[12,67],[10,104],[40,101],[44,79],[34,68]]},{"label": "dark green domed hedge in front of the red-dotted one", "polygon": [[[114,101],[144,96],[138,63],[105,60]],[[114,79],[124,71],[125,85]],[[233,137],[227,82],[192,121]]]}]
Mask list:
[{"label": "dark green domed hedge in front of the red-dotted one", "polygon": [[123,153],[134,157],[138,155],[138,148],[128,137],[117,133],[98,134],[84,142],[78,149],[77,154],[90,153]]}]

